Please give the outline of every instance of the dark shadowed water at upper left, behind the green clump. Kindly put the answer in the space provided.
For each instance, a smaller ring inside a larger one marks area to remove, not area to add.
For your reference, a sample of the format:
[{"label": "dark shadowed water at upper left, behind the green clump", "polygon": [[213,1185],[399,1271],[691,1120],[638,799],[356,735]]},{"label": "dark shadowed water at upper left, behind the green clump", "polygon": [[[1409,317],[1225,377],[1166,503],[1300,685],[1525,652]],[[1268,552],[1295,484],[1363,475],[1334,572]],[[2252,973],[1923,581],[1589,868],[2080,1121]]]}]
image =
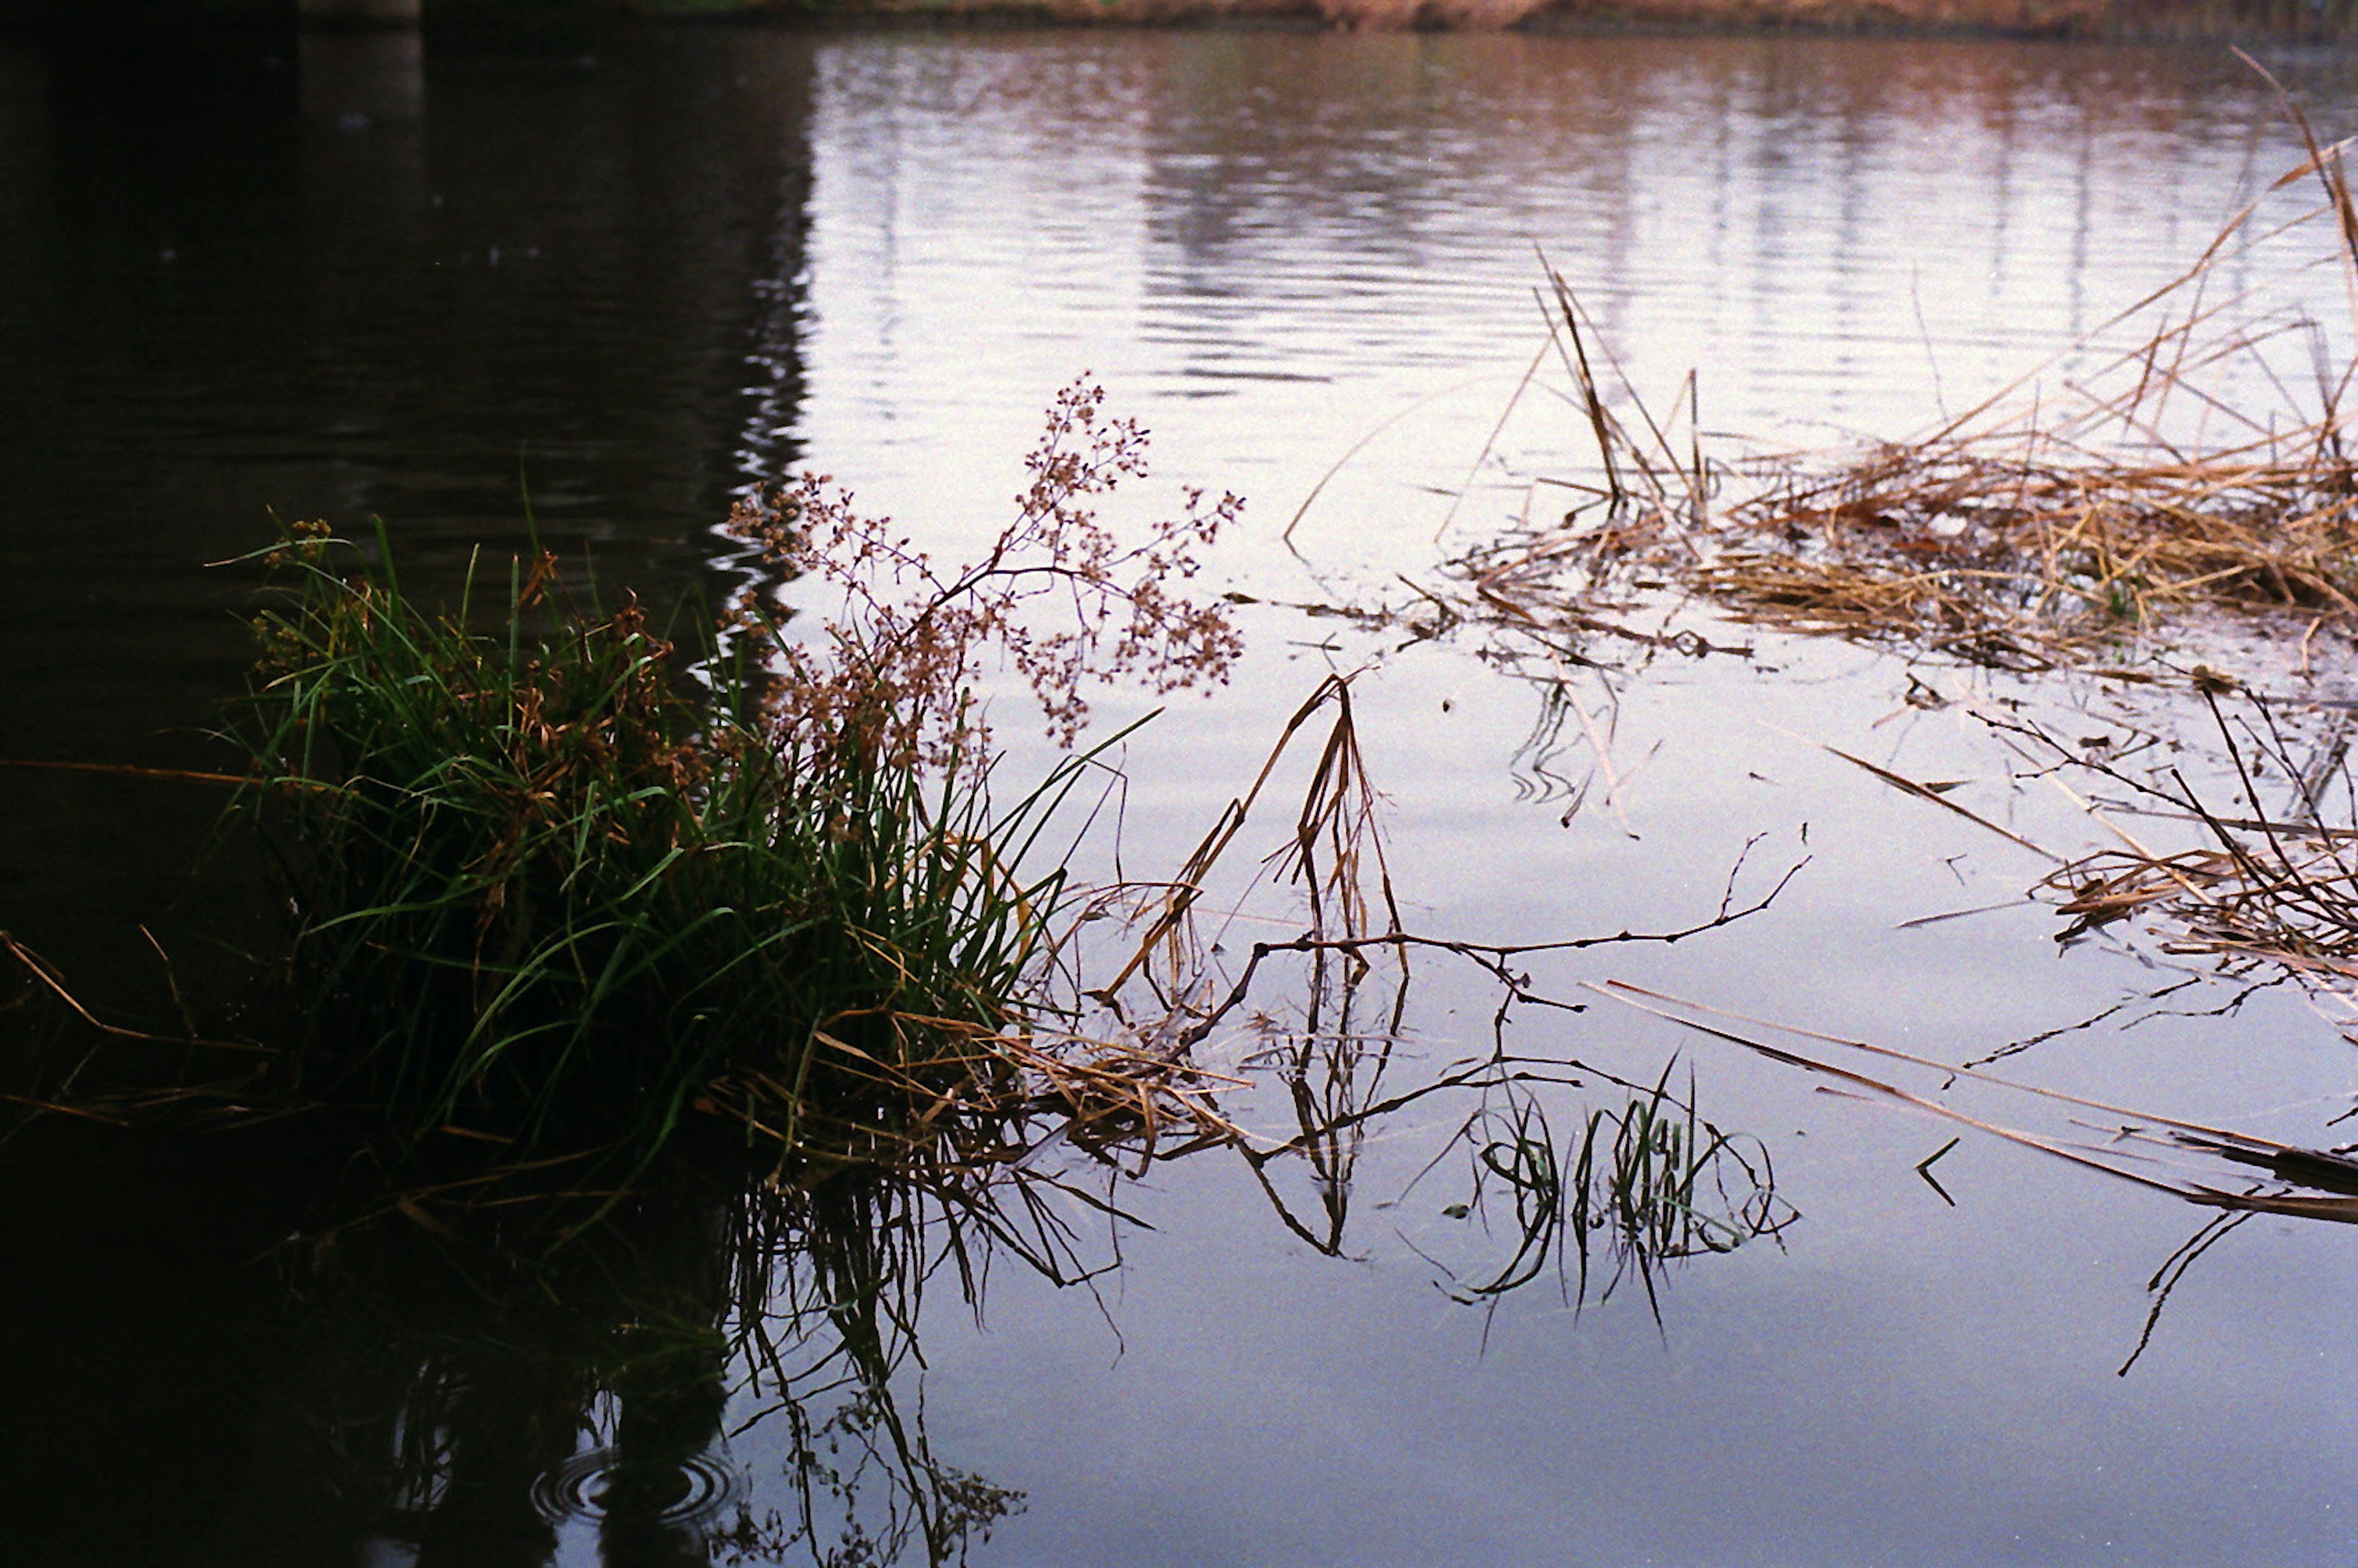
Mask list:
[{"label": "dark shadowed water at upper left, behind the green clump", "polygon": [[[203,564],[274,514],[389,519],[420,592],[531,519],[717,601],[747,465],[797,455],[811,68],[627,24],[0,38],[0,759],[219,766],[250,578]],[[219,806],[0,769],[9,929],[90,976]]]}]

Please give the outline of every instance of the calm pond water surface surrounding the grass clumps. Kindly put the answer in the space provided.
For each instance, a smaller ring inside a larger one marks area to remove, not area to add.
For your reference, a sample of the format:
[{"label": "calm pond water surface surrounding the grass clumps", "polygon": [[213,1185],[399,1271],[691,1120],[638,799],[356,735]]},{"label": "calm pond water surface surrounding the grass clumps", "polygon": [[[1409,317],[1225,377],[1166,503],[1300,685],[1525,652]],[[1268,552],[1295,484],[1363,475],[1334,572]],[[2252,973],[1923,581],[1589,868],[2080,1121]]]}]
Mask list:
[{"label": "calm pond water surface surrounding the grass clumps", "polygon": [[[2325,134],[2349,130],[2346,61],[2275,64]],[[608,580],[722,592],[729,498],[797,465],[938,549],[986,538],[1038,410],[1082,373],[1153,427],[1155,483],[1250,498],[1214,561],[1224,587],[1396,601],[1398,578],[1434,580],[1453,549],[1561,507],[1533,481],[1589,462],[1544,387],[1500,427],[1544,344],[1540,255],[1658,406],[1698,370],[1726,450],[1908,434],[2023,375],[2061,389],[2068,368],[2040,365],[2174,278],[2294,149],[2266,87],[2202,52],[736,28],[144,54],[7,40],[0,757],[203,757],[191,731],[245,648],[241,578],[200,564],[250,549],[271,512],[382,516],[441,582],[474,542],[516,545],[531,512]],[[2268,200],[2290,215],[2301,196]],[[2254,311],[2330,316],[2341,297],[2273,252],[2217,285],[2273,290]],[[1170,498],[1148,490],[1134,505]],[[1318,674],[1368,665],[1363,736],[1420,929],[1674,929],[1717,908],[1747,842],[1747,887],[1809,858],[1733,931],[1542,964],[1554,995],[1618,976],[1964,1059],[2160,983],[2134,946],[2059,953],[2056,917],[2021,903],[1903,927],[2011,901],[2044,865],[1823,745],[1969,780],[1957,799],[2040,842],[2094,830],[2004,788],[1988,736],[1910,707],[1886,655],[1759,637],[1754,660],[1582,674],[1559,691],[1585,717],[1549,745],[1542,677],[1563,670],[1502,665],[1497,641],[1398,648],[1278,604],[1243,615],[1236,686],[1127,747],[1132,870],[1193,842]],[[1929,679],[2040,698],[1983,672]],[[1021,769],[1038,757],[1016,731]],[[108,974],[172,905],[210,802],[45,773],[0,773],[0,922]],[[1424,974],[1401,1049],[1476,1049],[1493,1007],[1476,979]],[[2026,1073],[2332,1141],[2349,1045],[2280,990],[2207,1016],[2231,995],[2200,983],[2117,1014]],[[1523,1016],[1511,1040],[1644,1082],[1679,1054],[1705,1111],[1773,1151],[1802,1221],[1674,1269],[1660,1318],[1636,1290],[1582,1311],[1533,1290],[1486,1313],[1436,1287],[1483,1257],[1443,1214],[1462,1193],[1415,1181],[1438,1113],[1370,1137],[1342,1259],[1285,1231],[1243,1167],[1162,1170],[1127,1193],[1153,1228],[1122,1238],[1094,1297],[1002,1266],[981,1323],[948,1290],[924,1306],[903,1398],[922,1401],[934,1462],[1026,1495],[974,1561],[2358,1549],[2349,1236],[2242,1226],[2117,1377],[2193,1210],[1993,1139],[1943,1160],[1950,1205],[1912,1167],[1952,1127],[1611,1007]],[[1238,1066],[1250,1047],[1207,1052]],[[578,1401],[521,1375],[490,1427],[505,1507],[330,1497],[299,1455],[399,1441],[389,1408],[337,1401],[399,1386],[377,1365],[399,1346],[467,1330],[434,1318],[387,1351],[354,1309],[290,1318],[276,1276],[248,1266],[283,1236],[266,1162],[153,1153],[132,1177],[68,1181],[21,1146],[5,1158],[12,1257],[33,1259],[0,1285],[24,1391],[0,1408],[0,1542],[31,1542],[7,1561],[726,1556],[693,1528],[601,1530],[597,1488],[566,1490],[587,1460],[561,1467]],[[460,1382],[495,1405],[507,1363],[469,1365]],[[627,1377],[599,1384],[597,1441],[630,1419]],[[759,1396],[729,1386],[724,1417],[679,1417],[684,1450],[705,1443],[731,1497],[780,1507],[792,1422],[755,1419]],[[707,1443],[714,1429],[731,1436]]]}]

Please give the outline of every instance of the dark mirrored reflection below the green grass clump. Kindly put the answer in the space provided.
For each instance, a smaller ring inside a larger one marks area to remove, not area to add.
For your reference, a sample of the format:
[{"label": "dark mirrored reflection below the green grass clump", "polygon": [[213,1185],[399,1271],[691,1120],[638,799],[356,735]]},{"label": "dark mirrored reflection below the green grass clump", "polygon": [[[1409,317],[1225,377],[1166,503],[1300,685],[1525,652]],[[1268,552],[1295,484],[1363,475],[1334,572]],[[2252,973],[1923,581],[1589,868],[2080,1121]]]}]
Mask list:
[{"label": "dark mirrored reflection below the green grass clump", "polygon": [[941,1566],[1023,1509],[934,1450],[910,1377],[934,1271],[976,1287],[1021,1226],[990,1193],[766,1191],[670,1158],[566,1245],[512,1207],[443,1214],[335,1231],[257,1325],[295,1368],[264,1502],[323,1516],[316,1561],[389,1535],[538,1563],[594,1528],[606,1561]]}]

